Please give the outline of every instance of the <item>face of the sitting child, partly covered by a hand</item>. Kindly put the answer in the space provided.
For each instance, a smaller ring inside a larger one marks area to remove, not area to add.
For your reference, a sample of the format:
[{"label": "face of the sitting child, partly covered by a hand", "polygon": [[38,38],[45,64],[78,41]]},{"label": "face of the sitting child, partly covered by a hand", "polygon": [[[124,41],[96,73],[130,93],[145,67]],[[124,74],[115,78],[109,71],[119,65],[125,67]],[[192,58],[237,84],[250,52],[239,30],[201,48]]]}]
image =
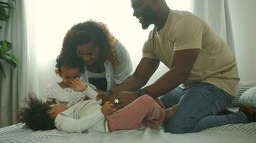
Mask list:
[{"label": "face of the sitting child, partly covered by a hand", "polygon": [[78,68],[70,69],[65,66],[61,67],[60,77],[63,79],[64,84],[67,85],[68,87],[70,87],[74,79],[77,79],[80,76],[81,76],[81,72]]}]

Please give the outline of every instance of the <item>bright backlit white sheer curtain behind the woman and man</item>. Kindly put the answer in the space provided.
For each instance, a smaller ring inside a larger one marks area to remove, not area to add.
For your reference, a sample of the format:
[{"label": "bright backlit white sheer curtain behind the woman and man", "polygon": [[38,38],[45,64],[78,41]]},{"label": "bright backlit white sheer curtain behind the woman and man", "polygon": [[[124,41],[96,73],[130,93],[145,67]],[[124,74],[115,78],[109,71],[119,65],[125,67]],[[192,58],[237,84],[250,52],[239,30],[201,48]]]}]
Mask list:
[{"label": "bright backlit white sheer curtain behind the woman and man", "polygon": [[[73,24],[88,19],[104,22],[109,30],[129,51],[132,63],[135,67],[142,57],[142,46],[147,39],[150,26],[142,30],[139,21],[132,16],[133,11],[130,1],[123,0],[27,0],[27,6],[31,9],[28,15],[34,15],[35,19],[29,19],[33,24],[37,70],[40,92],[47,84],[56,82],[59,78],[55,75],[55,59],[60,52],[63,37]],[[191,0],[166,0],[171,9],[191,10]],[[168,69],[160,65],[160,68],[150,79],[152,83],[164,74]]]}]

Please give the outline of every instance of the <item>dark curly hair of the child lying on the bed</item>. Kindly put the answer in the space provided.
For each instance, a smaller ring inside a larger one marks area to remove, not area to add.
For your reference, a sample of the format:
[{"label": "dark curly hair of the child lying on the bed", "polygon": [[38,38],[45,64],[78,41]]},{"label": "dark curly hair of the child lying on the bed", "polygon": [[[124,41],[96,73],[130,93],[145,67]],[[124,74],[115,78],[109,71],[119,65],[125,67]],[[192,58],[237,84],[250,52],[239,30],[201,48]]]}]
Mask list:
[{"label": "dark curly hair of the child lying on the bed", "polygon": [[33,131],[55,129],[54,119],[47,114],[49,104],[42,102],[33,94],[29,94],[25,102],[27,107],[19,111],[19,121],[25,123],[25,127]]}]

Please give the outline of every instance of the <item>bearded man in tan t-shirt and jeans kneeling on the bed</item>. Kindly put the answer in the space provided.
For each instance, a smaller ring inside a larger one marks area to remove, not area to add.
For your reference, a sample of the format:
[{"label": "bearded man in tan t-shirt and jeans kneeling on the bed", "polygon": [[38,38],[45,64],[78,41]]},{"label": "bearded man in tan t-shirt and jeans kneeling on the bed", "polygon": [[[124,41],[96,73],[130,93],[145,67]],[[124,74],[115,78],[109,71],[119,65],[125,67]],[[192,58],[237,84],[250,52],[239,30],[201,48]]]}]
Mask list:
[{"label": "bearded man in tan t-shirt and jeans kneeling on the bed", "polygon": [[[155,28],[143,47],[140,64],[122,84],[111,89],[124,107],[142,94],[160,99],[178,111],[165,124],[167,132],[198,132],[223,124],[246,123],[243,112],[219,116],[237,94],[237,63],[206,21],[188,11],[173,11],[165,0],[131,0],[142,29]],[[154,84],[142,88],[163,62],[170,69]],[[139,90],[138,90],[139,89]],[[129,92],[122,92],[129,91]]]}]

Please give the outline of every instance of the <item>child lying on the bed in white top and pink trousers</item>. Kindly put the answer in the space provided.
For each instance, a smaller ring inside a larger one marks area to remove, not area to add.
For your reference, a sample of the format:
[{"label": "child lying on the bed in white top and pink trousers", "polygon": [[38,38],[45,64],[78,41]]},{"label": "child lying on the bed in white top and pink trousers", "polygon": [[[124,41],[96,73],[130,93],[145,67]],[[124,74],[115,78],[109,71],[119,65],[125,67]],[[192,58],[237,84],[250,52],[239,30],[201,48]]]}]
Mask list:
[{"label": "child lying on the bed in white top and pink trousers", "polygon": [[[87,87],[90,88],[90,87]],[[72,107],[49,105],[29,96],[28,107],[20,112],[21,122],[32,130],[58,128],[64,132],[114,132],[124,129],[150,127],[157,129],[170,119],[177,107],[163,110],[152,97],[143,95],[122,109],[106,102],[102,107],[93,99],[78,102]]]}]

